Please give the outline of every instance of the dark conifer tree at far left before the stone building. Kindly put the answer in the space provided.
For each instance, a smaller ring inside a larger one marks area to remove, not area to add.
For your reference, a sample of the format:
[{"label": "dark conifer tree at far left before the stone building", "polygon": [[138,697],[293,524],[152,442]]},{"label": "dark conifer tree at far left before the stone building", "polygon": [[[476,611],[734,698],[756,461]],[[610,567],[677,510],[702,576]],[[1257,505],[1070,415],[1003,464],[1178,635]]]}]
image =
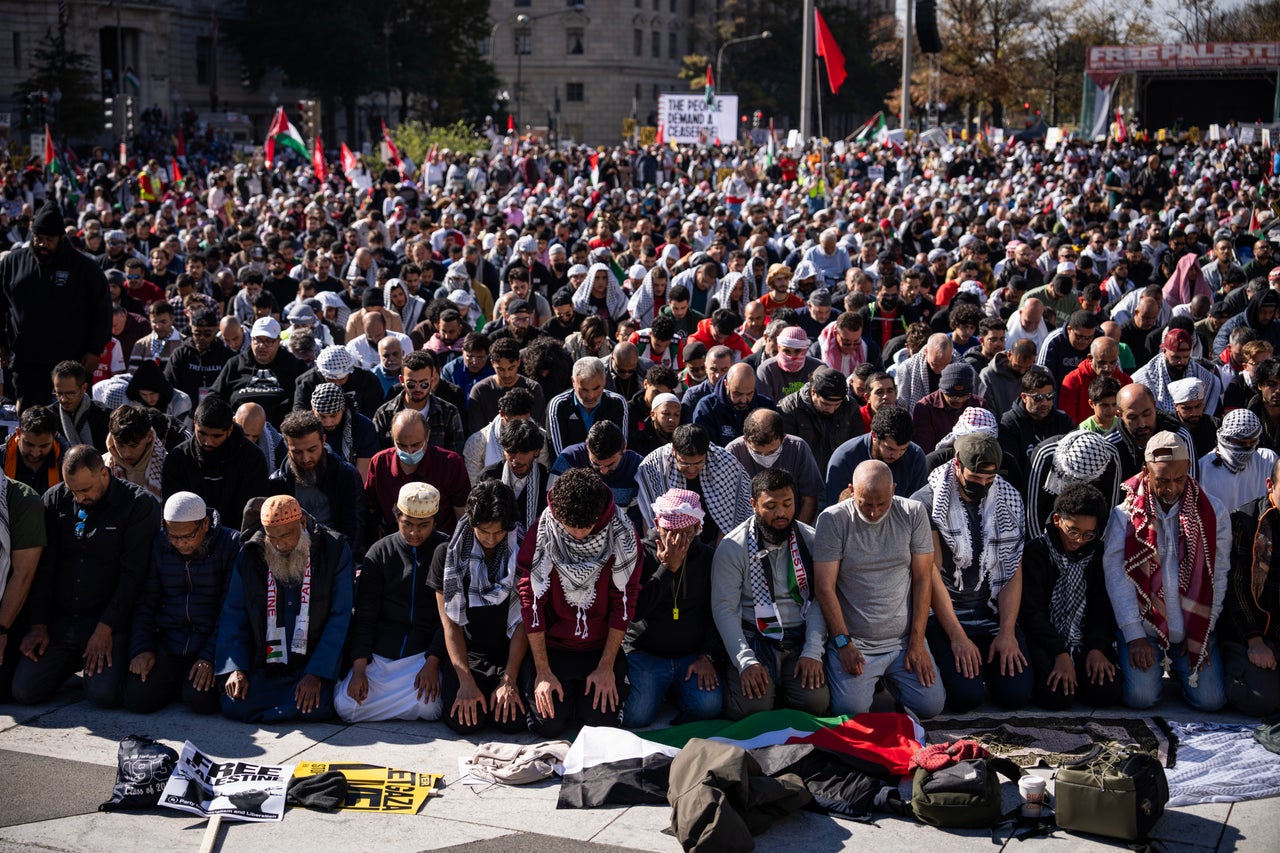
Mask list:
[{"label": "dark conifer tree at far left before the stone building", "polygon": [[[32,93],[54,95],[49,128],[55,137],[83,140],[102,129],[101,102],[95,96],[97,79],[90,70],[90,58],[67,44],[67,29],[46,29],[35,50],[31,77],[18,83],[14,97],[27,102]],[[42,127],[40,128],[44,129]]]}]

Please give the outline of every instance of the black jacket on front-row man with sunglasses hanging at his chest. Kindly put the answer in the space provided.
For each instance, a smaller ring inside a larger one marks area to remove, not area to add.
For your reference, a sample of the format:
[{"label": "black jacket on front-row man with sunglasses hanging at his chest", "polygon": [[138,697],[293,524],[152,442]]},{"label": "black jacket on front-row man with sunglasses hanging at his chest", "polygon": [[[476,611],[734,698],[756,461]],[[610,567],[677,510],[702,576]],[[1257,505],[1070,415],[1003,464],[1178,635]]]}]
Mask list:
[{"label": "black jacket on front-row man with sunglasses hanging at his chest", "polygon": [[31,624],[52,625],[54,633],[73,628],[79,642],[99,622],[127,630],[160,529],[160,503],[142,487],[113,476],[84,511],[77,537],[79,505],[67,484],[45,492],[44,502],[49,543],[27,603]]}]

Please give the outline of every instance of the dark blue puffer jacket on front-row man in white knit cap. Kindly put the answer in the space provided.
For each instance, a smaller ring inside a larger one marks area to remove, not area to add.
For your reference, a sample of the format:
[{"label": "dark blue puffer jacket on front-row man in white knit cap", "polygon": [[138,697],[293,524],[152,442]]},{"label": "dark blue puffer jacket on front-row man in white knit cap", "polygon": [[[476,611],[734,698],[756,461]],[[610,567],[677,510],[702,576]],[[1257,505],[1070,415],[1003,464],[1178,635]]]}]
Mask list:
[{"label": "dark blue puffer jacket on front-row man in white knit cap", "polygon": [[204,551],[198,558],[183,557],[164,530],[156,534],[147,585],[133,611],[131,658],[163,648],[175,657],[193,654],[212,663],[239,533],[224,528],[214,514]]}]

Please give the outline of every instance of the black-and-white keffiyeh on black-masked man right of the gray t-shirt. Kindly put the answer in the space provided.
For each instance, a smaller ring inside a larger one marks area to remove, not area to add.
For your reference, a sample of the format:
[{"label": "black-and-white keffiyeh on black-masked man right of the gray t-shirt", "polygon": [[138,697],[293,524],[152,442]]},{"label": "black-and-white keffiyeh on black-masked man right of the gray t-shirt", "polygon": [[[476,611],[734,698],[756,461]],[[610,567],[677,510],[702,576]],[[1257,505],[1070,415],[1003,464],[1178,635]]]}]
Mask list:
[{"label": "black-and-white keffiyeh on black-masked man right of the gray t-shirt", "polygon": [[[969,515],[957,487],[954,462],[936,467],[929,474],[929,488],[933,489],[929,517],[937,526],[938,535],[951,548],[955,587],[964,589],[964,570],[973,565],[974,555]],[[978,507],[983,539],[982,561],[978,566],[979,585],[982,580],[991,584],[992,607],[1023,560],[1023,533],[1027,526],[1023,511],[1021,496],[1002,476],[996,478]]]}]

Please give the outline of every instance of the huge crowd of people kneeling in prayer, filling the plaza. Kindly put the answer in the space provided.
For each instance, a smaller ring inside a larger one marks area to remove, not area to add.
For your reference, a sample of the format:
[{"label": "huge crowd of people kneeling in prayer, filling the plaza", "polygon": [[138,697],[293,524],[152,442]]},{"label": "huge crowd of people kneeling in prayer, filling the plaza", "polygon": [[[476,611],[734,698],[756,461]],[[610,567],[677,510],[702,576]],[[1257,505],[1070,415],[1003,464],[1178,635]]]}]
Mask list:
[{"label": "huge crowd of people kneeling in prayer, filling the plaza", "polygon": [[826,154],[10,173],[0,698],[1280,708],[1268,152]]}]

